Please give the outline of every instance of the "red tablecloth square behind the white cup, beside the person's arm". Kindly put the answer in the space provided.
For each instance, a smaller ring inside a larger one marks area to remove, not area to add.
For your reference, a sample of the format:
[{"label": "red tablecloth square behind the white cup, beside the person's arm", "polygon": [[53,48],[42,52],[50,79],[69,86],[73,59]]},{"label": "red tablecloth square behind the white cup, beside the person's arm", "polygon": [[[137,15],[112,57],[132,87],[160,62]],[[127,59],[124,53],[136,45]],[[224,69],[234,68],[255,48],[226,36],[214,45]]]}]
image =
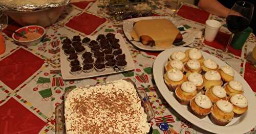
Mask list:
[{"label": "red tablecloth square behind the white cup, beside the person's arm", "polygon": [[208,12],[204,10],[185,6],[185,5],[183,5],[180,8],[177,14],[183,18],[193,20],[202,24],[205,24],[205,21],[208,19],[210,15]]}]

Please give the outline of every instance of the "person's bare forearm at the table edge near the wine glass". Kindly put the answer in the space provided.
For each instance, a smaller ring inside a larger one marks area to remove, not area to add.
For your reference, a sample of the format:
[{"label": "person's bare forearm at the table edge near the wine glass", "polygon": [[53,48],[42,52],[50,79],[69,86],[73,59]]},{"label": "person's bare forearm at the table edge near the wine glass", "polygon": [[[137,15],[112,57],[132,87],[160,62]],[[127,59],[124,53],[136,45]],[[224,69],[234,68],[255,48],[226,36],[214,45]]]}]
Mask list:
[{"label": "person's bare forearm at the table edge near the wine glass", "polygon": [[[227,1],[227,0],[224,0]],[[227,17],[230,9],[224,7],[217,0],[200,0],[198,7],[215,15]]]}]

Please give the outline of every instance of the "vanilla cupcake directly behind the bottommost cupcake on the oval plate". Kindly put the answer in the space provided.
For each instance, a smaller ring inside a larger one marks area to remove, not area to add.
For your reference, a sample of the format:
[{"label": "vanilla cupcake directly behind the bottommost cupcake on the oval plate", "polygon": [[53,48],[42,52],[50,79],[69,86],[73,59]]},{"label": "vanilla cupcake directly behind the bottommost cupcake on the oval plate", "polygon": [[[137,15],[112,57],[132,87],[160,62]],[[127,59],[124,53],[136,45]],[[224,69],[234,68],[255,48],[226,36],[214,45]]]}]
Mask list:
[{"label": "vanilla cupcake directly behind the bottommost cupcake on the oval plate", "polygon": [[210,101],[215,103],[218,100],[225,100],[227,97],[226,91],[221,86],[214,86],[206,90],[205,95],[210,98]]}]

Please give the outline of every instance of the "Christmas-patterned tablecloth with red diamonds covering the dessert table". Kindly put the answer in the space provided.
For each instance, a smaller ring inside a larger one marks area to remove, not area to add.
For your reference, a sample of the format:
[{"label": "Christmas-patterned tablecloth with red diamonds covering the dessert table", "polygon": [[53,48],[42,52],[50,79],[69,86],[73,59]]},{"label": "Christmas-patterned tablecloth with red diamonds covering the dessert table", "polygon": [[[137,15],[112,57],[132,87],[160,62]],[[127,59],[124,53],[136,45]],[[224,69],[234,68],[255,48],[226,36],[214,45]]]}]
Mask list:
[{"label": "Christmas-patterned tablecloth with red diamonds covering the dessert table", "polygon": [[[155,10],[153,15],[167,16],[171,12],[172,10],[162,7]],[[221,58],[217,51],[225,47],[230,36],[225,18],[187,4],[181,6],[177,15],[179,22],[191,31],[204,29],[207,19],[220,21],[223,26],[213,42],[204,41],[202,37],[189,47]],[[12,22],[7,29],[16,30],[20,27]],[[161,97],[152,72],[154,60],[160,51],[140,50],[126,41],[135,63],[134,71],[74,81],[62,79],[59,53],[61,39],[68,35],[84,37],[109,32],[123,35],[122,22],[110,18],[101,1],[71,3],[58,21],[46,28],[46,31],[46,38],[41,43],[25,47],[16,45],[11,34],[4,30],[6,51],[0,55],[0,133],[55,133],[55,107],[62,102],[62,94],[66,90],[123,78],[130,78],[140,90],[147,92],[156,115],[151,121],[153,133],[168,133],[159,128],[159,123],[162,122],[169,125],[172,133],[207,133],[182,118]],[[230,47],[230,58],[222,59],[245,78],[254,93],[256,68],[246,60],[246,56],[255,44],[255,37],[251,34],[241,50]],[[247,133],[255,131],[252,129]]]}]

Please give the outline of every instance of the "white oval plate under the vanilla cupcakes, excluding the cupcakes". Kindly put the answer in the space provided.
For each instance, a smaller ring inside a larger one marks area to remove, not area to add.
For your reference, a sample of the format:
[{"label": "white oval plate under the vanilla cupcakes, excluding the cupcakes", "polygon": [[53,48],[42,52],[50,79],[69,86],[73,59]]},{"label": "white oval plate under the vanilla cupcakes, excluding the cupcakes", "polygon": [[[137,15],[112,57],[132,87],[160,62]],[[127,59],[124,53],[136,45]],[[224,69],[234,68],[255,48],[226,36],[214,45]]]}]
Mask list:
[{"label": "white oval plate under the vanilla cupcakes, excluding the cupcakes", "polygon": [[[193,115],[188,111],[187,106],[181,105],[176,100],[176,98],[173,95],[173,92],[170,92],[168,90],[163,79],[164,65],[168,61],[169,56],[174,51],[178,51],[178,50],[185,51],[186,49],[189,49],[189,48],[181,47],[181,48],[171,48],[171,49],[165,50],[158,55],[158,57],[154,62],[154,66],[153,66],[154,79],[164,99],[169,103],[170,106],[172,106],[172,108],[177,113],[179,113],[186,120],[207,131],[214,132],[214,133],[245,133],[250,131],[256,125],[256,116],[255,116],[256,97],[253,91],[251,90],[250,86],[247,84],[244,78],[240,76],[238,72],[234,71],[235,72],[234,79],[236,81],[241,82],[243,85],[244,95],[248,100],[248,110],[241,117],[233,118],[233,120],[230,123],[228,123],[226,126],[219,126],[212,123],[208,116],[203,119],[196,117],[195,115]],[[214,56],[211,56],[204,51],[201,51],[201,52],[204,58],[214,60],[219,66],[227,65],[220,59]]]}]

